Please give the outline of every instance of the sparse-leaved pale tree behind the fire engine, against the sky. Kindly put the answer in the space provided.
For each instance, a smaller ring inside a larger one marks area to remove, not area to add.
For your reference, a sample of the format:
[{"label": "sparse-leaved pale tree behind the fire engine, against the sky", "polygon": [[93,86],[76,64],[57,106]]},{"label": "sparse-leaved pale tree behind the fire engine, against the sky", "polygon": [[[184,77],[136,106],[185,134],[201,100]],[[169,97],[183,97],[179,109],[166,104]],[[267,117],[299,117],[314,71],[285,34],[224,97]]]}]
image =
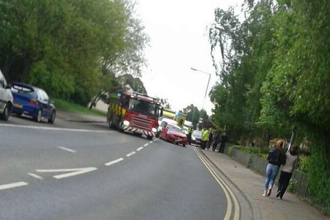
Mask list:
[{"label": "sparse-leaved pale tree behind the fire engine, against the sky", "polygon": [[[93,98],[90,106],[95,106],[98,100],[107,97],[109,91],[118,89],[111,83],[112,77],[118,78],[117,81],[124,82],[133,87],[135,91],[147,93],[143,83],[139,79],[141,71],[147,65],[144,49],[149,43],[149,36],[145,33],[142,22],[135,14],[136,2],[123,0],[124,14],[126,16],[125,35],[122,44],[124,50],[118,50],[116,53],[108,53],[101,59],[102,64],[102,84],[97,86],[96,96]],[[131,75],[129,77],[128,75]],[[137,77],[137,78],[135,78]]]}]

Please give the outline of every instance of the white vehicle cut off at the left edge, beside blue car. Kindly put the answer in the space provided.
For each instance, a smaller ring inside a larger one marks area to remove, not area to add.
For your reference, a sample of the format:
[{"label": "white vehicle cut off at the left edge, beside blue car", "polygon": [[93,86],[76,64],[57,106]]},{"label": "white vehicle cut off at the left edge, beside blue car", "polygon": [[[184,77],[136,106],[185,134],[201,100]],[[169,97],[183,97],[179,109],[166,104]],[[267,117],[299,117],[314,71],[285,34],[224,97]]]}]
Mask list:
[{"label": "white vehicle cut off at the left edge, beside blue car", "polygon": [[13,106],[13,95],[10,91],[11,86],[0,70],[0,118],[7,121]]}]

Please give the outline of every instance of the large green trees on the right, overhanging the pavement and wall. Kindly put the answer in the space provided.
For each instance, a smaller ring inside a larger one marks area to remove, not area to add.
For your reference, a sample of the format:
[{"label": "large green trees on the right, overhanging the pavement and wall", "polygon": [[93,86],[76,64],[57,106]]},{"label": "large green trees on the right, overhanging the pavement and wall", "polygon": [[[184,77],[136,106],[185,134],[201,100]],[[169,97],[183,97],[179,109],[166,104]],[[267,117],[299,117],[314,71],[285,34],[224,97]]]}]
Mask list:
[{"label": "large green trees on the right, overhanging the pavement and wall", "polygon": [[297,140],[311,143],[298,168],[308,173],[310,195],[329,212],[330,5],[247,0],[244,6],[242,23],[231,8],[215,10],[209,36],[221,81],[211,91],[212,120],[236,140],[265,143],[286,138],[296,125]]}]

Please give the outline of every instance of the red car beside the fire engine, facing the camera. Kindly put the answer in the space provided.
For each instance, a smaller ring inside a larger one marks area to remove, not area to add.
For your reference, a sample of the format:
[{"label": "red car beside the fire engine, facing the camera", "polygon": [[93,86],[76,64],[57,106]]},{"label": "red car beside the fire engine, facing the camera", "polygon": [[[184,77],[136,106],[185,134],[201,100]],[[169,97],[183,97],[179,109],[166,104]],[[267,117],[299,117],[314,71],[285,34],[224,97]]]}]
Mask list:
[{"label": "red car beside the fire engine, facing the camera", "polygon": [[184,147],[187,144],[187,136],[179,126],[174,124],[167,124],[161,128],[160,138],[168,142],[182,144]]}]

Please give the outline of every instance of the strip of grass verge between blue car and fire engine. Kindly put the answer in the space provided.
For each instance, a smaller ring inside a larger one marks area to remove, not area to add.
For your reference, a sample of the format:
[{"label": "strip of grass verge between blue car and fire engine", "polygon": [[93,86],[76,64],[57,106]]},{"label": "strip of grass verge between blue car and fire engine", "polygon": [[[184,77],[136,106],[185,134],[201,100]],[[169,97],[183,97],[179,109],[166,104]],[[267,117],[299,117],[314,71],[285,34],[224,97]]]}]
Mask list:
[{"label": "strip of grass verge between blue car and fire engine", "polygon": [[56,109],[62,111],[71,111],[77,113],[84,113],[84,114],[93,114],[93,115],[101,115],[106,116],[107,112],[98,110],[98,109],[89,109],[84,106],[68,102],[62,99],[53,99],[55,102]]}]

